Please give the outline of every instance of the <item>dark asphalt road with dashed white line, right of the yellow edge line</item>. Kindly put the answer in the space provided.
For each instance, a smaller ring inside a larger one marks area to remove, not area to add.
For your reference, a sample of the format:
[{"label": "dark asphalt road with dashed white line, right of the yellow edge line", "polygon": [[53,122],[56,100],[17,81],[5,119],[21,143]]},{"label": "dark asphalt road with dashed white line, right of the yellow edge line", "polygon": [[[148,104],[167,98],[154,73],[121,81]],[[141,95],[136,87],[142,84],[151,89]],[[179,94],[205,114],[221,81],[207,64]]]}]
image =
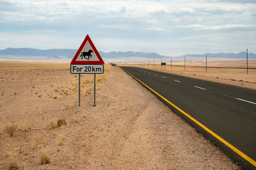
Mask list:
[{"label": "dark asphalt road with dashed white line, right of the yellow edge line", "polygon": [[256,90],[138,67],[122,68],[256,160]]}]

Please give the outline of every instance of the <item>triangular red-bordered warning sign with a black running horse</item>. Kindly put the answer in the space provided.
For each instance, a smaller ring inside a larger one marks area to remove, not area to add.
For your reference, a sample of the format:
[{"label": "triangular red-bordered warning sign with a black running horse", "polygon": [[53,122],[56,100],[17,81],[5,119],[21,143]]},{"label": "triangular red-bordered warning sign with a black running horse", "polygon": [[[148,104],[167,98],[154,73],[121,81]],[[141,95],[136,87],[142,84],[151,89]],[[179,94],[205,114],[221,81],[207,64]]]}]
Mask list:
[{"label": "triangular red-bordered warning sign with a black running horse", "polygon": [[70,64],[104,64],[89,35],[84,38],[83,43]]}]

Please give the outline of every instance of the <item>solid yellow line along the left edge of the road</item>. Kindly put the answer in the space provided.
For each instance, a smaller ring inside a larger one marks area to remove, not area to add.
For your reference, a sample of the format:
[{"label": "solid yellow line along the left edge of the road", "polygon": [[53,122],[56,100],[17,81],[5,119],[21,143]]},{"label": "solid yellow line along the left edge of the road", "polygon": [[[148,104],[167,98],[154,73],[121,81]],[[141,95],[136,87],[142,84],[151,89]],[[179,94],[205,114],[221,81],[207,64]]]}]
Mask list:
[{"label": "solid yellow line along the left edge of the road", "polygon": [[218,134],[212,132],[210,129],[208,129],[207,127],[205,127],[205,125],[201,124],[200,122],[198,122],[195,118],[191,117],[188,113],[186,113],[185,111],[181,110],[179,107],[175,106],[175,104],[173,104],[172,102],[168,101],[166,98],[164,98],[163,96],[161,96],[160,94],[158,94],[155,90],[151,89],[150,87],[148,87],[148,85],[146,85],[145,83],[143,83],[142,81],[140,81],[138,78],[136,78],[135,76],[133,76],[131,73],[129,73],[128,71],[126,71],[124,68],[122,68],[126,73],[130,74],[133,78],[135,78],[137,81],[139,81],[141,84],[145,85],[145,87],[147,87],[148,89],[150,89],[152,92],[154,92],[155,94],[157,94],[157,96],[161,97],[162,99],[164,99],[164,101],[166,101],[167,103],[171,104],[174,108],[176,108],[177,110],[179,110],[181,113],[183,113],[184,115],[186,115],[186,117],[188,117],[190,120],[192,120],[193,122],[195,122],[196,124],[198,124],[200,127],[202,127],[205,131],[209,132],[212,136],[214,136],[215,138],[217,138],[219,141],[221,141],[223,144],[225,144],[226,146],[228,146],[228,148],[232,149],[234,152],[236,152],[238,155],[240,155],[241,157],[243,157],[243,159],[247,160],[248,162],[250,162],[253,166],[256,167],[256,162],[255,160],[251,159],[250,157],[248,157],[247,155],[245,155],[243,152],[241,152],[240,150],[238,150],[235,146],[231,145],[230,143],[228,143],[227,141],[225,141],[225,139],[221,138],[220,136],[218,136]]}]

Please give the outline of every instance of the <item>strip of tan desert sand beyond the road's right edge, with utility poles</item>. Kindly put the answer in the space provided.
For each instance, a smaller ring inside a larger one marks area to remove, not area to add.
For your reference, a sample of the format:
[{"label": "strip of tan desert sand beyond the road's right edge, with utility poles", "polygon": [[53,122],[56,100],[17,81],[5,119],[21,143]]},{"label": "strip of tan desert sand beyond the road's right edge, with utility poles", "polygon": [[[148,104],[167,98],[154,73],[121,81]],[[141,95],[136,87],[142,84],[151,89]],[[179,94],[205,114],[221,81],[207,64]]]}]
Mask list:
[{"label": "strip of tan desert sand beyond the road's right edge, with utility poles", "polygon": [[[171,65],[170,62],[166,64]],[[163,71],[166,73],[179,74],[181,76],[188,76],[192,78],[197,78],[207,81],[215,81],[219,83],[225,83],[228,85],[235,85],[238,87],[244,87],[248,89],[256,90],[256,69],[248,69],[248,74],[246,69],[227,69],[227,68],[209,68],[209,67],[246,67],[246,60],[223,60],[223,61],[208,61],[207,71],[205,69],[205,62],[202,61],[192,61],[186,62],[186,67],[184,69],[184,62],[172,62],[175,66],[162,66],[160,63],[151,62],[144,64],[134,64],[134,63],[119,63],[118,66],[134,66],[134,67],[144,67],[146,69],[154,69],[157,71]],[[203,66],[201,67],[189,67],[189,66]],[[256,68],[256,60],[249,60],[248,67]]]}]

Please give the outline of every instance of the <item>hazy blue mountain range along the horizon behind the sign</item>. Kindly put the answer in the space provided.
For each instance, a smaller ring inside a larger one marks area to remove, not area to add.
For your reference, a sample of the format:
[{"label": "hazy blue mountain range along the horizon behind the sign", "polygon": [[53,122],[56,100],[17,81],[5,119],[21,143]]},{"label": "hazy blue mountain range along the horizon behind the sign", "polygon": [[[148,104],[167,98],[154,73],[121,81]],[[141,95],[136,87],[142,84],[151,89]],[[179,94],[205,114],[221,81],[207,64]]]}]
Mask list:
[{"label": "hazy blue mountain range along the horizon behind the sign", "polygon": [[[50,50],[38,50],[34,48],[6,48],[0,50],[0,59],[42,59],[42,60],[70,60],[76,54],[77,49],[50,49]],[[170,57],[159,55],[158,53],[147,52],[99,52],[100,56],[105,60],[117,60],[117,61],[132,61],[143,59],[164,59],[169,60]],[[186,56],[187,58],[196,59],[205,57],[205,54],[186,54],[175,57],[177,60],[181,60]],[[255,53],[248,53],[249,59],[256,59]],[[246,53],[207,53],[207,57],[212,58],[225,58],[225,59],[246,59]]]}]

